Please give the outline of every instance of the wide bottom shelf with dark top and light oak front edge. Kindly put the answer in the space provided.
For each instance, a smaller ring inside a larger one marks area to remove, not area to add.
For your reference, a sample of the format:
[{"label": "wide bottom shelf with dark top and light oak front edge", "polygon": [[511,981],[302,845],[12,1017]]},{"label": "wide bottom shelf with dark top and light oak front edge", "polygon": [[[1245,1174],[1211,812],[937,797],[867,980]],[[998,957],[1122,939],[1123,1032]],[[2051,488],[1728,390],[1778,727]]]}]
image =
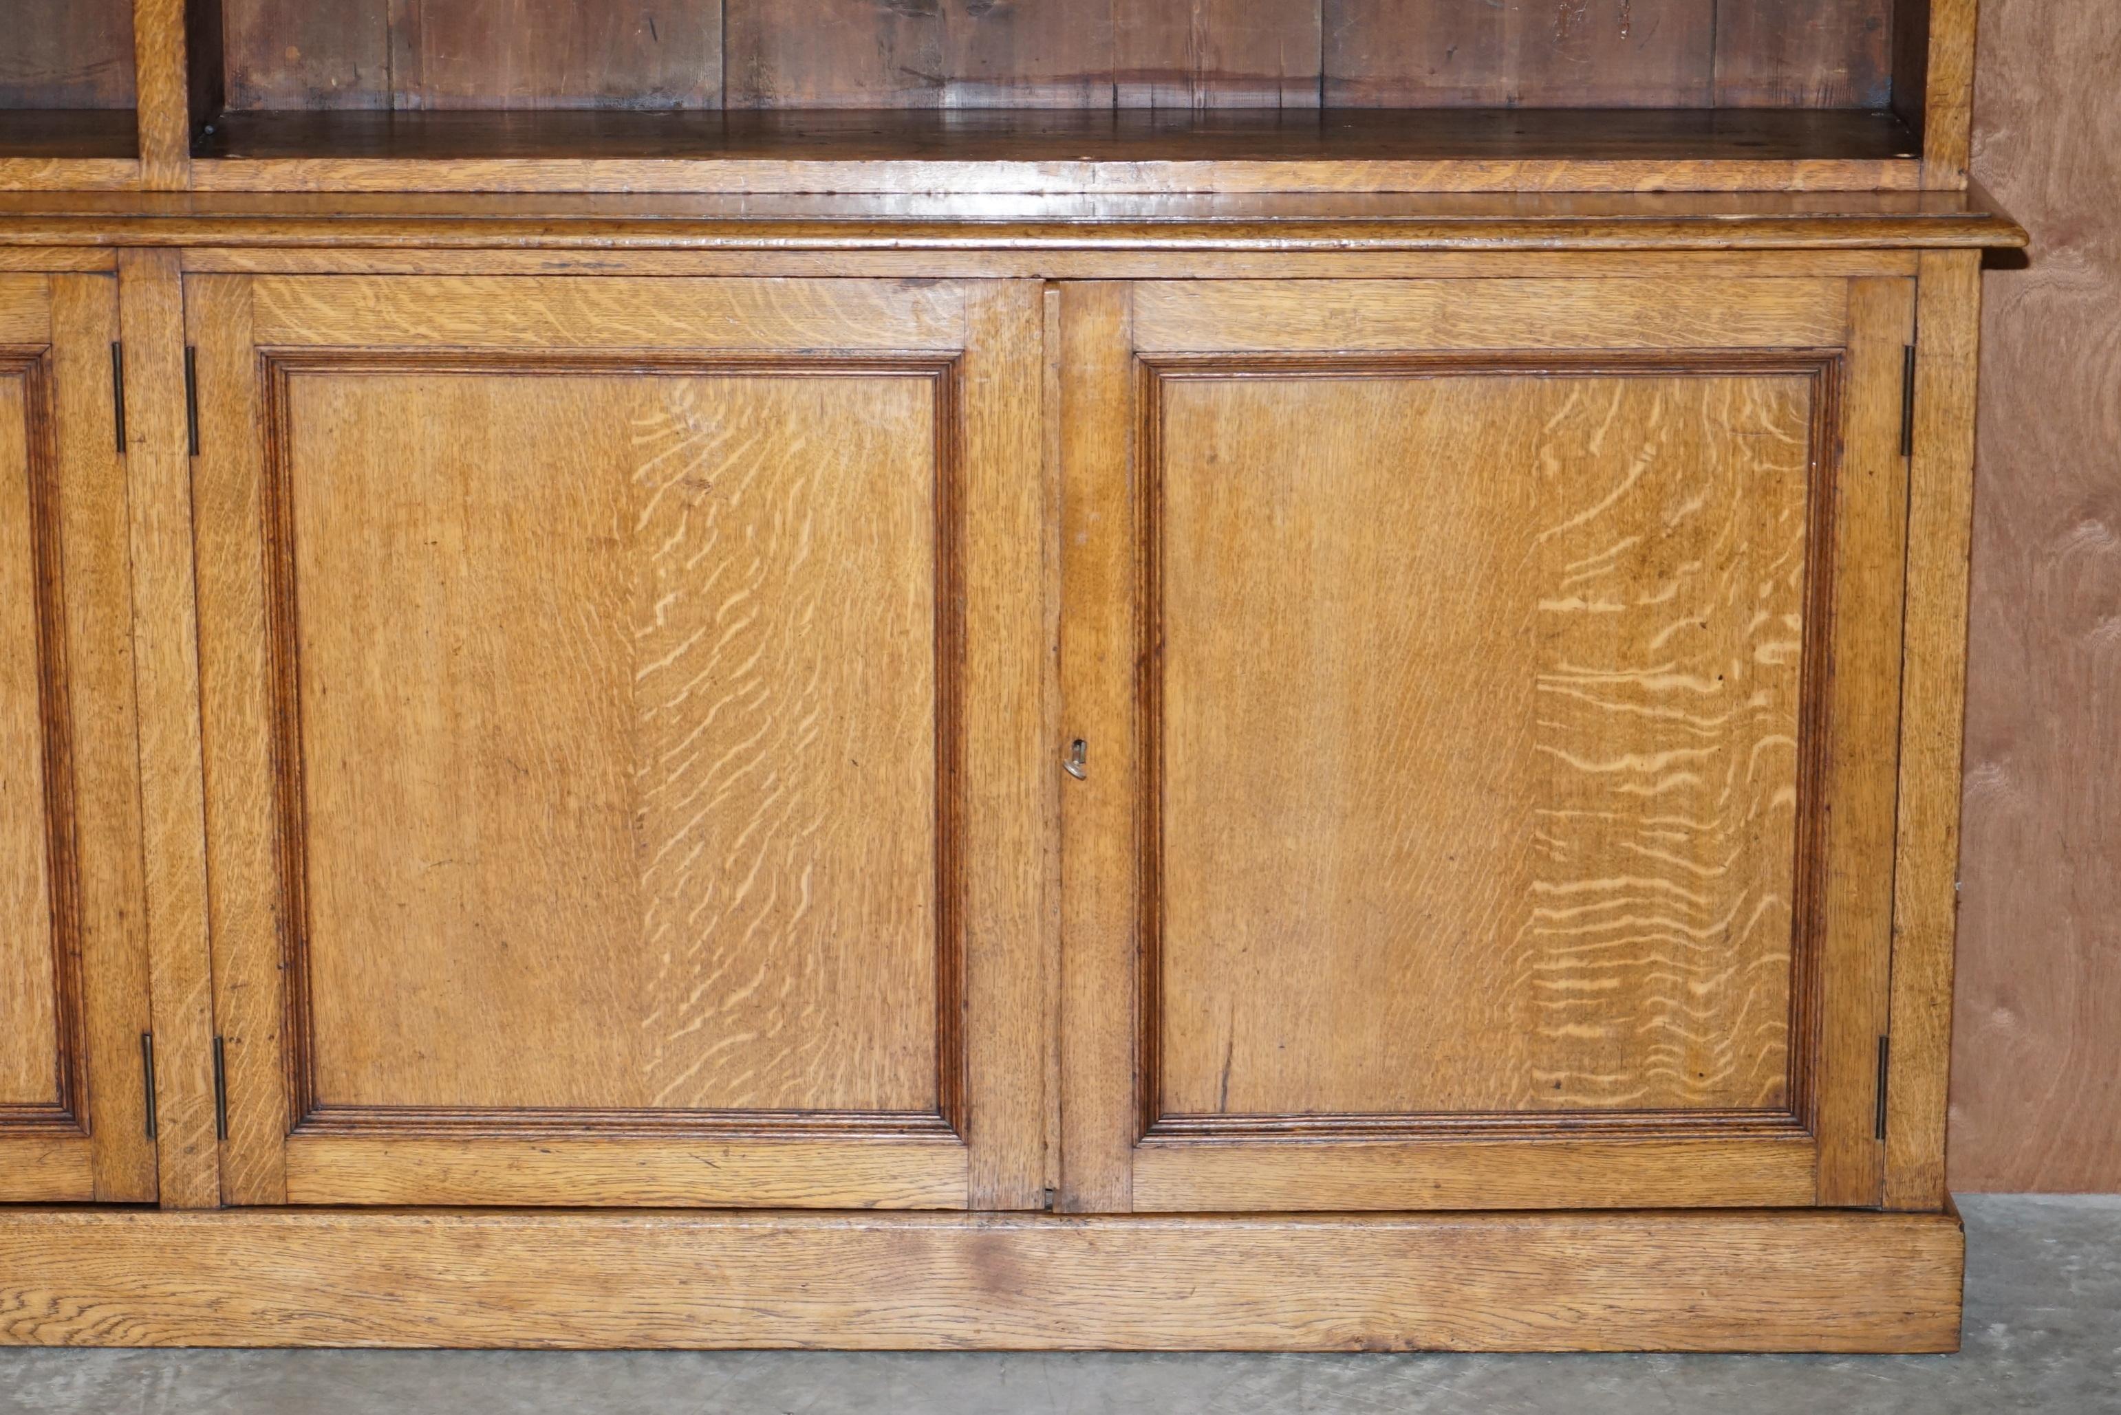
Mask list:
[{"label": "wide bottom shelf with dark top and light oak front edge", "polygon": [[1890,112],[225,112],[201,191],[1913,191]]}]

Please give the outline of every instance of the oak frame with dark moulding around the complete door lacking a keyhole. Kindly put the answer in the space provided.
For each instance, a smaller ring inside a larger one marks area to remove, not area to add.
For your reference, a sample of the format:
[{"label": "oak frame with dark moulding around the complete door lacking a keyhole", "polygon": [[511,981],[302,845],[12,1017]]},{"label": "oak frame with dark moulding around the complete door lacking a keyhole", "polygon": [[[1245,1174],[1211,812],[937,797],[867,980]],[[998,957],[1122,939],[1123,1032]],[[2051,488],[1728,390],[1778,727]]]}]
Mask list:
[{"label": "oak frame with dark moulding around the complete door lacking a keyhole", "polygon": [[[1041,1207],[1054,930],[1037,282],[189,275],[225,1203]],[[286,430],[299,369],[914,377],[937,466],[935,1114],[314,1104]]]}]

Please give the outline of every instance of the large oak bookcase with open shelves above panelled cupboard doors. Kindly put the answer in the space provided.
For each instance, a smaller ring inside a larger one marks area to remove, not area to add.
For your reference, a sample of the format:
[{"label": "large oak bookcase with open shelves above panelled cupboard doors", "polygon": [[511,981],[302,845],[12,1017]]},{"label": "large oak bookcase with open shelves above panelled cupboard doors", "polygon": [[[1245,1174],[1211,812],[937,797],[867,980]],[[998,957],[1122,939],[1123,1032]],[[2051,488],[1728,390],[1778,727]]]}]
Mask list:
[{"label": "large oak bookcase with open shelves above panelled cupboard doors", "polygon": [[0,1341],[1953,1349],[1973,0],[23,0]]}]

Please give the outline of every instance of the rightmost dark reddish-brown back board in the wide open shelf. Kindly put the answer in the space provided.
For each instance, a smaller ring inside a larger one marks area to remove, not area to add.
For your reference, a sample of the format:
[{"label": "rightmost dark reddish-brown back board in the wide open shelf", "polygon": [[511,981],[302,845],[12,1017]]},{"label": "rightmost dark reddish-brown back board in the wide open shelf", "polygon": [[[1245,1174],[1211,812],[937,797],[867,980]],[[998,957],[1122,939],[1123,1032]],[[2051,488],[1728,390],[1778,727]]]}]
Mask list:
[{"label": "rightmost dark reddish-brown back board in the wide open shelf", "polygon": [[1883,108],[1892,97],[1892,0],[1722,0],[1716,104]]}]

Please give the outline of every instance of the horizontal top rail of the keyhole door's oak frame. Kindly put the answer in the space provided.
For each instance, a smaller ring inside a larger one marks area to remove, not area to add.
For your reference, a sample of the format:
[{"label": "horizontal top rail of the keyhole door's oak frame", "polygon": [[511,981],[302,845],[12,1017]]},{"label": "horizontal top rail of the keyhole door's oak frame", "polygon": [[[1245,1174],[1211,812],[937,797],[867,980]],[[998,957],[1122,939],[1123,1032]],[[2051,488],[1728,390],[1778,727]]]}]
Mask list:
[{"label": "horizontal top rail of the keyhole door's oak frame", "polygon": [[1364,282],[1317,299],[1298,280],[1150,282],[1137,288],[1143,354],[1258,347],[1364,350],[1735,350],[1837,347],[1847,284],[1724,280],[1714,286],[1635,280]]}]

